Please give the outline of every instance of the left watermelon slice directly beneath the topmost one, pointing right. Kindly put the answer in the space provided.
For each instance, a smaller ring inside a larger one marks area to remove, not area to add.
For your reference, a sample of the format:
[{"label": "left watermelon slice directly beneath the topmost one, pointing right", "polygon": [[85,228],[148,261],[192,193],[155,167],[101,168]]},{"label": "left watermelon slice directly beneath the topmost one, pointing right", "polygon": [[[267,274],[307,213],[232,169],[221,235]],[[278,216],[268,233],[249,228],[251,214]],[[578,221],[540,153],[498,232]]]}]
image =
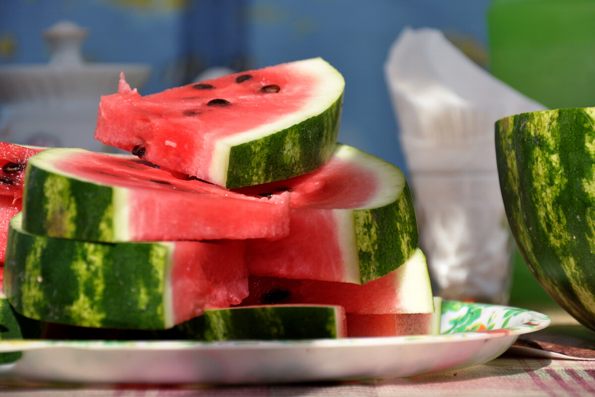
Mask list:
[{"label": "left watermelon slice directly beneath the topmost one, pointing right", "polygon": [[275,239],[289,233],[289,193],[250,197],[181,180],[131,155],[48,149],[29,159],[27,232],[98,242]]}]

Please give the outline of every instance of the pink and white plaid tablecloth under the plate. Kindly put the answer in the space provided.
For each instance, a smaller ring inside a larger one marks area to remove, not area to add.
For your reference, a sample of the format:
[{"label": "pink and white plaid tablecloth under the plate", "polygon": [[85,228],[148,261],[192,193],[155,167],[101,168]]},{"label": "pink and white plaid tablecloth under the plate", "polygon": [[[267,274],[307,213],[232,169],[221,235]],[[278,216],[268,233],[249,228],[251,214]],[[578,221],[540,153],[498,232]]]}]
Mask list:
[{"label": "pink and white plaid tablecloth under the plate", "polygon": [[258,386],[1,385],[2,396],[591,396],[595,361],[502,355],[460,371],[373,382]]}]

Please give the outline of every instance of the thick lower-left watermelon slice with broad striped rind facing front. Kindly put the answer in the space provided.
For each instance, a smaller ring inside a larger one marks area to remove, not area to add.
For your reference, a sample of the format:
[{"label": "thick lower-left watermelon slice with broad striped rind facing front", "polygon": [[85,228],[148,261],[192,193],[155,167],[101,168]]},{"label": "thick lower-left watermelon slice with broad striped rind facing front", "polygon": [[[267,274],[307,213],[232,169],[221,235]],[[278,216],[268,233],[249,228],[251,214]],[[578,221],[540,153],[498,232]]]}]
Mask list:
[{"label": "thick lower-left watermelon slice with broad striped rind facing front", "polygon": [[36,236],[12,218],[4,293],[35,320],[167,329],[248,295],[242,240],[92,243]]}]

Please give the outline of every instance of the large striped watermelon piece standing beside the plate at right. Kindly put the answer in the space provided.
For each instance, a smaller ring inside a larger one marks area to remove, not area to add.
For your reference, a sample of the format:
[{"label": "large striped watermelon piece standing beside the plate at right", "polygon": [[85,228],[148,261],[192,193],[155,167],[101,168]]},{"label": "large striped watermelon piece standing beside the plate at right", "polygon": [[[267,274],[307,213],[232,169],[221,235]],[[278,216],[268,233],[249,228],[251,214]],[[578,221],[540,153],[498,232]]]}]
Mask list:
[{"label": "large striped watermelon piece standing beside the plate at right", "polygon": [[541,286],[595,329],[595,108],[496,122],[500,188],[512,234]]}]

